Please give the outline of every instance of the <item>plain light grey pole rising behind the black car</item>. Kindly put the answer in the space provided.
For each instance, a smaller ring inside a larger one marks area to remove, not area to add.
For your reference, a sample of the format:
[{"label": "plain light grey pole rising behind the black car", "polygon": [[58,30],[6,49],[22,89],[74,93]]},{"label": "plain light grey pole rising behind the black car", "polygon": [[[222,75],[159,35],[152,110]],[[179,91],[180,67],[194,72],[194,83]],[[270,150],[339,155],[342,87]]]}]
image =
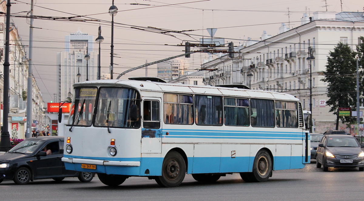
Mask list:
[{"label": "plain light grey pole rising behind the black car", "polygon": [[28,79],[27,79],[27,138],[32,137],[32,97],[33,97],[33,71],[32,60],[33,59],[33,0],[30,4],[30,26],[29,26],[29,62],[28,62]]}]

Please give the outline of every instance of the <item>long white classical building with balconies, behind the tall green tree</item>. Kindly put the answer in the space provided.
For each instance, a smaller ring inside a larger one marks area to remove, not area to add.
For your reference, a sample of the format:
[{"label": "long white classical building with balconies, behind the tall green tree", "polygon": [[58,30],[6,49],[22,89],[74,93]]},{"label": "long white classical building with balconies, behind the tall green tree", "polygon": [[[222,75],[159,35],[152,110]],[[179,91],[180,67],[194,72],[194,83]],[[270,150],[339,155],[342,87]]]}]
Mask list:
[{"label": "long white classical building with balconies, behind the tall green tree", "polygon": [[[312,116],[314,132],[335,129],[336,116],[326,106],[327,83],[321,81],[326,70],[327,56],[338,42],[352,49],[364,36],[363,12],[315,12],[304,15],[301,26],[289,29],[282,24],[279,34],[263,33],[261,41],[247,41],[236,49],[233,58],[222,56],[204,63],[202,68],[217,69],[206,74],[205,85],[244,84],[254,90],[270,90],[296,96],[304,110],[309,110],[310,62],[308,48],[315,59],[312,67]],[[361,107],[362,108],[362,107]],[[364,107],[362,108],[364,109]],[[346,126],[339,125],[346,130]]]}]

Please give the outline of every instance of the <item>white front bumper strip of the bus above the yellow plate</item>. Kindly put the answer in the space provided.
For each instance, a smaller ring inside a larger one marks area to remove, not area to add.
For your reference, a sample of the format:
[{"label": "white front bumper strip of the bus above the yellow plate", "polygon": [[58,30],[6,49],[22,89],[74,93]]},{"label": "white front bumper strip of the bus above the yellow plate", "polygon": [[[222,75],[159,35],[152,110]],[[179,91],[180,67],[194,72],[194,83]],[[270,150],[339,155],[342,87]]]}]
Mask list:
[{"label": "white front bumper strip of the bus above the yellow plate", "polygon": [[89,165],[105,165],[105,166],[126,166],[139,167],[140,161],[110,161],[110,160],[95,160],[95,159],[76,159],[62,157],[64,163],[80,163]]}]

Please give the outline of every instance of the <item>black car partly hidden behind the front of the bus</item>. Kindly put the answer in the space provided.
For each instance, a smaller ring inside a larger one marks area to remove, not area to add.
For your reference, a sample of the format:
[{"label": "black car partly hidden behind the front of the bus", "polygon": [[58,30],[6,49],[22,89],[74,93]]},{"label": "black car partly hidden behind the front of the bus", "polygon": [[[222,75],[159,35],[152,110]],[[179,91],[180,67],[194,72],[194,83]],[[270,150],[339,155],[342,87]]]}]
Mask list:
[{"label": "black car partly hidden behind the front of the bus", "polygon": [[[35,137],[21,141],[8,152],[0,153],[0,183],[4,179],[13,180],[16,184],[28,184],[37,179],[61,181],[65,177],[78,177],[82,182],[90,182],[94,173],[64,168],[61,160],[63,144],[64,137]],[[50,151],[44,151],[45,147]]]}]

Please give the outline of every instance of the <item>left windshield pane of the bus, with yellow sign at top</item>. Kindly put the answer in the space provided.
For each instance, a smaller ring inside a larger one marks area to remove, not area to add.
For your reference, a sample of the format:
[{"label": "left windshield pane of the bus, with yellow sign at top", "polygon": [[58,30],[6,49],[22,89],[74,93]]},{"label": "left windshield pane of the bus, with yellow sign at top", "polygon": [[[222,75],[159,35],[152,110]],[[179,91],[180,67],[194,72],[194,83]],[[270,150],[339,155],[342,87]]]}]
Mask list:
[{"label": "left windshield pane of the bus, with yellow sign at top", "polygon": [[[68,125],[91,126],[92,109],[96,102],[97,88],[76,88],[74,94]],[[83,106],[81,107],[82,104]]]}]

